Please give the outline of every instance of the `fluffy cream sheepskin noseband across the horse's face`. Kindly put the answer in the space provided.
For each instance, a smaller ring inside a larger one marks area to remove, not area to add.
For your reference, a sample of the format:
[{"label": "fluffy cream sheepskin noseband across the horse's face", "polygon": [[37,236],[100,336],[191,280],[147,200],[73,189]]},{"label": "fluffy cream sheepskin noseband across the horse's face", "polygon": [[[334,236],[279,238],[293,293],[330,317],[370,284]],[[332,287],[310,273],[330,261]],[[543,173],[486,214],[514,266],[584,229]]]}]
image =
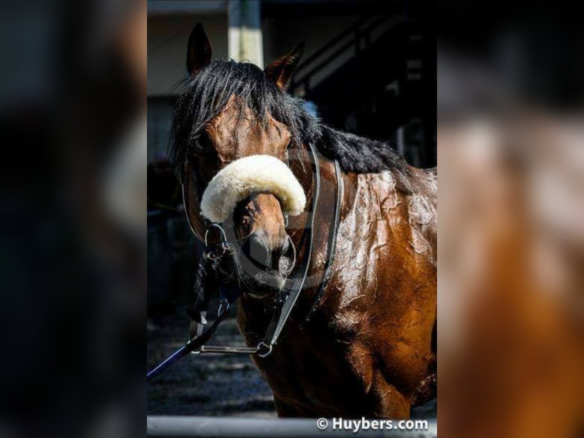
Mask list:
[{"label": "fluffy cream sheepskin noseband across the horse's face", "polygon": [[250,155],[228,164],[211,179],[203,193],[201,213],[222,223],[252,192],[272,193],[290,215],[302,213],[306,205],[304,190],[288,166],[270,155]]}]

